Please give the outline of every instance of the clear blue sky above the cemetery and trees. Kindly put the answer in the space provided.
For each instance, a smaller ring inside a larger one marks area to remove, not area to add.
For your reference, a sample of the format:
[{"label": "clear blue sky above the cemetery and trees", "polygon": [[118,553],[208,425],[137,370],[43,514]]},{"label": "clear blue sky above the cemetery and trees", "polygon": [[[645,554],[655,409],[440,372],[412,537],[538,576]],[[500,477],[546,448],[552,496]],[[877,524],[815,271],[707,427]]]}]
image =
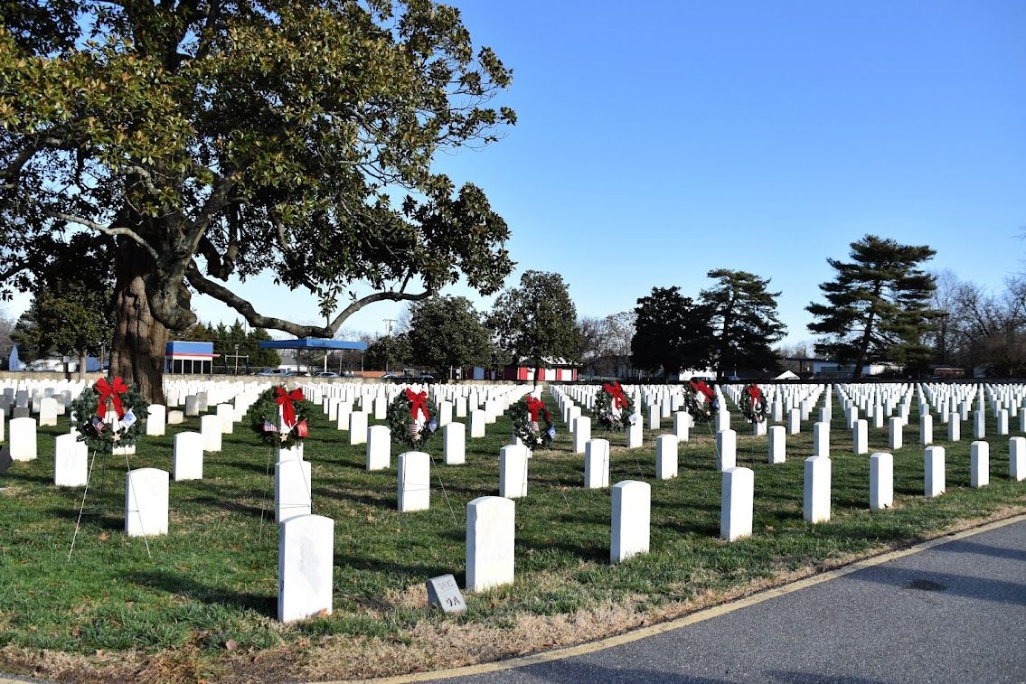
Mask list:
[{"label": "clear blue sky above the cemetery and trees", "polygon": [[[929,268],[988,287],[1026,271],[1022,0],[453,4],[514,70],[500,104],[519,123],[437,167],[508,220],[510,284],[561,273],[578,313],[604,316],[654,286],[697,295],[711,269],[751,271],[783,292],[797,341],[826,258],[867,233],[929,244]],[[320,320],[270,279],[240,291]],[[400,308],[345,327],[384,332]]]}]

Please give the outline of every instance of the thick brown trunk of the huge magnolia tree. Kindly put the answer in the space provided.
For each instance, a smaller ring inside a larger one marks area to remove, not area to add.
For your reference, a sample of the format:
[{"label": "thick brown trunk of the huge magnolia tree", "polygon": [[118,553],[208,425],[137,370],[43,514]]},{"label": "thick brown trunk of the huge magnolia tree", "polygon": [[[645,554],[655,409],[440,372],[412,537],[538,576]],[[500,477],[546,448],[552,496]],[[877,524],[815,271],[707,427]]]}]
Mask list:
[{"label": "thick brown trunk of the huge magnolia tree", "polygon": [[163,404],[168,331],[150,311],[146,282],[153,271],[153,260],[134,243],[126,241],[119,246],[114,292],[118,322],[111,350],[111,374],[120,375],[129,385],[134,383],[150,403]]}]

